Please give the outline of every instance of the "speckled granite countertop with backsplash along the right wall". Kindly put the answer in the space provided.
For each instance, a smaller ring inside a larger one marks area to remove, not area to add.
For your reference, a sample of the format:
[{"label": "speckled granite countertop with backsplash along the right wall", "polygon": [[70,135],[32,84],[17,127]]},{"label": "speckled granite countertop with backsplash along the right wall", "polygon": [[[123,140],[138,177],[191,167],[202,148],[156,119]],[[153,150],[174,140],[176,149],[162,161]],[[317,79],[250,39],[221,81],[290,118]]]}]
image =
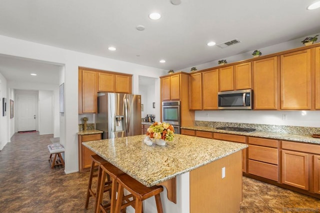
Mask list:
[{"label": "speckled granite countertop with backsplash along the right wall", "polygon": [[[311,134],[320,134],[320,128],[316,127],[208,121],[195,121],[194,123],[194,126],[181,126],[181,128],[320,144],[320,138],[311,137]],[[215,129],[215,127],[220,126],[246,127],[255,128],[256,130],[252,132],[238,132]]]}]

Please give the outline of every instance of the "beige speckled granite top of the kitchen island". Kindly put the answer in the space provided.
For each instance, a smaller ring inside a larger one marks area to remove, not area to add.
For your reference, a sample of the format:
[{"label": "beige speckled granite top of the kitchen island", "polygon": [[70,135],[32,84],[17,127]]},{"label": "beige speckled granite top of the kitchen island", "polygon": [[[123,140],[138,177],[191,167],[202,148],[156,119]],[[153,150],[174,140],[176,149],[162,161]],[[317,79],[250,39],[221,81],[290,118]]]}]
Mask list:
[{"label": "beige speckled granite top of the kitchen island", "polygon": [[152,186],[232,154],[247,145],[175,134],[164,146],[143,142],[145,135],[82,142],[142,184]]}]

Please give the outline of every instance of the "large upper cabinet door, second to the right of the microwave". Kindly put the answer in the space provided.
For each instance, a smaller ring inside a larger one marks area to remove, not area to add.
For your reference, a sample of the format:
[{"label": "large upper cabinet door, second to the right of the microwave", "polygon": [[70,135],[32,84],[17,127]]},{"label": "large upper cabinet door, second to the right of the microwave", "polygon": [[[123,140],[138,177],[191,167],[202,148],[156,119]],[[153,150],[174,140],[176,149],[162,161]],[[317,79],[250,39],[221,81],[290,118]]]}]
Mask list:
[{"label": "large upper cabinet door, second to the right of the microwave", "polygon": [[310,49],[281,55],[281,109],[310,109]]}]

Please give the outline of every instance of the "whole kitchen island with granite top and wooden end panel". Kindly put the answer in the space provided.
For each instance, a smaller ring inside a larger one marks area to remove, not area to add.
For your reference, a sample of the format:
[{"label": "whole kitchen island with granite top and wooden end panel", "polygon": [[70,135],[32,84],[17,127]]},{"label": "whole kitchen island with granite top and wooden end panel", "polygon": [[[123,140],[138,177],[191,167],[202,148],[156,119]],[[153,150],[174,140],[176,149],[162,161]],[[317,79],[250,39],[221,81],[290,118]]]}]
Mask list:
[{"label": "whole kitchen island with granite top and wooden end panel", "polygon": [[[238,212],[241,149],[246,144],[175,134],[165,146],[147,146],[144,138],[137,135],[82,144],[146,186],[176,178],[176,203],[166,198],[166,190],[161,193],[164,212]],[[143,201],[143,207],[145,212],[156,212],[154,198]]]}]

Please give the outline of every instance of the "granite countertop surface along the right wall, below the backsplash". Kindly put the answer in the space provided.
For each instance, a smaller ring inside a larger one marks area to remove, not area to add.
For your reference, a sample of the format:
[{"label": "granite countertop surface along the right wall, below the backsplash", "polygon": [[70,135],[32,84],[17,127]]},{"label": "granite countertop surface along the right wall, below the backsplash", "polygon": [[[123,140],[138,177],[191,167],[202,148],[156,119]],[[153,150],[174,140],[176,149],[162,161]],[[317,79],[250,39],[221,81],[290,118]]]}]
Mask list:
[{"label": "granite countertop surface along the right wall, below the backsplash", "polygon": [[206,127],[206,126],[181,126],[180,128],[320,144],[320,138],[314,138],[311,136],[311,134],[304,135],[304,134],[292,134],[292,133],[278,133],[278,132],[270,132],[270,131],[239,132],[239,131],[220,130],[220,129],[215,129],[214,127]]}]

